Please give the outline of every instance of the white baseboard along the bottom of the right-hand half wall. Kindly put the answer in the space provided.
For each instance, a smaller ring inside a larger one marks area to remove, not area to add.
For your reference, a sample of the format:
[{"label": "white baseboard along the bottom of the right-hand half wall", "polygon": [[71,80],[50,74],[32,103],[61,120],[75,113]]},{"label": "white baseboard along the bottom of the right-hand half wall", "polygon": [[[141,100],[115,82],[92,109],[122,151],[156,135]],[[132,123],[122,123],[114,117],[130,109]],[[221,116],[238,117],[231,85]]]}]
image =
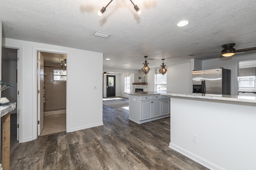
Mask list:
[{"label": "white baseboard along the bottom of the right-hand half wall", "polygon": [[206,168],[208,168],[210,170],[225,170],[224,168],[221,168],[220,166],[218,166],[218,165],[216,165],[216,164],[214,164],[196,154],[193,154],[192,152],[189,152],[188,150],[183,149],[173,143],[169,144],[169,148],[176,150],[177,152],[183,154],[184,156],[187,156],[188,158],[198,162],[199,164],[201,164],[202,166],[205,166]]}]

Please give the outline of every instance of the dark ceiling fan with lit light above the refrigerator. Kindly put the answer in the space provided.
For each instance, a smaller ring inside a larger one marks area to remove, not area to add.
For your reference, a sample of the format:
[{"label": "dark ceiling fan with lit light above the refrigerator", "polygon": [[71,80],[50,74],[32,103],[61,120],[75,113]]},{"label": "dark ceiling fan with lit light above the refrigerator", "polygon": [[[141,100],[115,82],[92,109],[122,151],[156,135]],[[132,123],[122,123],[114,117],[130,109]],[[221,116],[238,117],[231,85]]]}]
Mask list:
[{"label": "dark ceiling fan with lit light above the refrigerator", "polygon": [[250,48],[246,48],[246,49],[236,50],[236,49],[233,48],[235,45],[236,45],[235,43],[222,45],[221,47],[223,48],[223,50],[221,51],[222,56],[220,58],[230,57],[230,56],[234,55],[235,53],[256,50],[256,47],[250,47]]}]

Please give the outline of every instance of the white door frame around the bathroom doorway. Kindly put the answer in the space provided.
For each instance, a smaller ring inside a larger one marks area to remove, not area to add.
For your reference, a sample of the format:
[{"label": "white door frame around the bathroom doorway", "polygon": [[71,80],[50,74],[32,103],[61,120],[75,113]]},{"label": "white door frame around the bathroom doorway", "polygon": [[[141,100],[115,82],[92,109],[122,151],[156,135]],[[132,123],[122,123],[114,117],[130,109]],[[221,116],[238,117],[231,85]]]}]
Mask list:
[{"label": "white door frame around the bathroom doorway", "polygon": [[36,100],[33,100],[33,140],[36,139],[38,136],[38,100],[37,100],[37,51],[40,52],[47,52],[47,53],[60,53],[65,54],[67,59],[67,81],[66,81],[66,132],[70,132],[70,101],[68,100],[70,98],[70,52],[68,51],[59,51],[59,50],[53,50],[53,49],[45,49],[45,48],[39,48],[39,47],[33,47],[33,98]]}]

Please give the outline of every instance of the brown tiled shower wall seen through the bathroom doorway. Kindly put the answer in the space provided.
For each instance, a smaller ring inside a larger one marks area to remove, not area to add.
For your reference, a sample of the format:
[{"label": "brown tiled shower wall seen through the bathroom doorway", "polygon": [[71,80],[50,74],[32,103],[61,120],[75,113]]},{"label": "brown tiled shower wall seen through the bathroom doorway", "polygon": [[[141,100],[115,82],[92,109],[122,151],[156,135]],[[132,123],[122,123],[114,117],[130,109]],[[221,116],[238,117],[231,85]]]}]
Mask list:
[{"label": "brown tiled shower wall seen through the bathroom doorway", "polygon": [[65,69],[44,67],[44,112],[66,110],[66,81],[53,81],[53,70]]}]

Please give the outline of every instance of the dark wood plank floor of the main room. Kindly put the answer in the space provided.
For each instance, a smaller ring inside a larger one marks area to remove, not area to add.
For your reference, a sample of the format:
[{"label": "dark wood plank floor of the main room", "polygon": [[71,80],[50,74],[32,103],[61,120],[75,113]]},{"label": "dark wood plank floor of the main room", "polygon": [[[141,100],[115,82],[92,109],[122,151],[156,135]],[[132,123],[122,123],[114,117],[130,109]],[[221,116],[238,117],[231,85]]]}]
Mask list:
[{"label": "dark wood plank floor of the main room", "polygon": [[138,125],[103,106],[103,126],[20,143],[12,170],[207,170],[170,149],[170,117]]}]

